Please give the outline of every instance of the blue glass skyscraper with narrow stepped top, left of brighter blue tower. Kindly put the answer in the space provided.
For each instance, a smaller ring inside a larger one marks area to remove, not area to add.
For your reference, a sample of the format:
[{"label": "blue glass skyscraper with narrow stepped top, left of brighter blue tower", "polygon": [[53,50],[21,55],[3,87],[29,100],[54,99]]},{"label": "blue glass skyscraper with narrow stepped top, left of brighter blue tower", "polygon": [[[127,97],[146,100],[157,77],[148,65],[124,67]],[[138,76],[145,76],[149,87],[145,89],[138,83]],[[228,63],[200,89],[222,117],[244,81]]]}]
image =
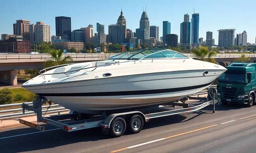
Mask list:
[{"label": "blue glass skyscraper with narrow stepped top, left of brighter blue tower", "polygon": [[190,44],[190,30],[191,23],[189,22],[189,15],[184,14],[184,22],[180,24],[180,43]]}]

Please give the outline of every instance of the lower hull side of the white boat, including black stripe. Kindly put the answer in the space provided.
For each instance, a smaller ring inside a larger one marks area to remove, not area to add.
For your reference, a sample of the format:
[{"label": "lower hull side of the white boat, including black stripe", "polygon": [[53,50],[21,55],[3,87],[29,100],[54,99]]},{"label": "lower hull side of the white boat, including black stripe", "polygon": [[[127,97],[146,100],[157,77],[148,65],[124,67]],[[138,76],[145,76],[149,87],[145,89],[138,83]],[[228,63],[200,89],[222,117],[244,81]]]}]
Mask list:
[{"label": "lower hull side of the white boat, including black stripe", "polygon": [[73,111],[98,114],[177,101],[209,87],[225,70],[207,70],[207,75],[204,71],[159,72],[24,88]]}]

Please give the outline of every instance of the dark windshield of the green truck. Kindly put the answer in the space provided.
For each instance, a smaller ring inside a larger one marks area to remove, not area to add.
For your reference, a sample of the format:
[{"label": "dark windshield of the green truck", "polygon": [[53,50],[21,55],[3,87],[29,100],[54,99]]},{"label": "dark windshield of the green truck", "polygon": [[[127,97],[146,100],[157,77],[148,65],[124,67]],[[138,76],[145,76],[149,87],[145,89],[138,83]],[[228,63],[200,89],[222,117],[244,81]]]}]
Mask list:
[{"label": "dark windshield of the green truck", "polygon": [[245,74],[243,73],[223,73],[219,80],[228,82],[244,82]]}]

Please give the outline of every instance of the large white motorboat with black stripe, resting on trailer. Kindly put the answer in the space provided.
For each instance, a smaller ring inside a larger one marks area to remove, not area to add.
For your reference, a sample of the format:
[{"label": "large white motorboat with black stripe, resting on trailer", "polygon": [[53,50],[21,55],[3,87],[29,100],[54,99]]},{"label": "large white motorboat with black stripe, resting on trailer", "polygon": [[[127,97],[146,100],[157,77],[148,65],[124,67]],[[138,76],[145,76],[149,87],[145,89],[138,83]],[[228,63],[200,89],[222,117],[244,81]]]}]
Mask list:
[{"label": "large white motorboat with black stripe, resting on trailer", "polygon": [[22,87],[73,111],[98,114],[177,101],[209,87],[225,71],[173,50],[143,49],[44,69]]}]

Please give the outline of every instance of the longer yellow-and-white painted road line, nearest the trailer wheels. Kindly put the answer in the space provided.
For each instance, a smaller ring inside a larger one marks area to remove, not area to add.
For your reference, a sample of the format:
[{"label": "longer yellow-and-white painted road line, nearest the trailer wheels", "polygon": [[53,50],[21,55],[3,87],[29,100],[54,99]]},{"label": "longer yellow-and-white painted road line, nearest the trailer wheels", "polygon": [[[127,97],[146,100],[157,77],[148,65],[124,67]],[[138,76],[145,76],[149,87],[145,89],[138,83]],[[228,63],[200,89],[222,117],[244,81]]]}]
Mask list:
[{"label": "longer yellow-and-white painted road line, nearest the trailer wheels", "polygon": [[204,130],[204,129],[207,129],[207,128],[212,128],[212,127],[215,127],[217,125],[218,124],[211,125],[211,126],[204,127],[204,128],[198,128],[198,129],[195,129],[195,130],[192,130],[192,131],[188,131],[188,132],[184,132],[184,133],[180,133],[180,134],[177,134],[177,135],[171,135],[171,136],[164,137],[164,138],[161,138],[161,139],[156,139],[156,140],[153,140],[153,141],[140,143],[140,144],[133,145],[133,146],[130,146],[130,147],[126,147],[126,148],[122,148],[122,149],[117,149],[117,150],[111,151],[110,153],[116,153],[116,152],[123,151],[123,150],[126,150],[126,149],[131,149],[131,148],[139,147],[139,146],[142,146],[142,145],[145,145],[145,144],[149,144],[149,143],[153,143],[153,142],[158,142],[158,141],[161,141],[161,140],[173,138],[173,137],[180,136],[180,135],[185,135],[185,134],[188,134],[188,133]]}]

